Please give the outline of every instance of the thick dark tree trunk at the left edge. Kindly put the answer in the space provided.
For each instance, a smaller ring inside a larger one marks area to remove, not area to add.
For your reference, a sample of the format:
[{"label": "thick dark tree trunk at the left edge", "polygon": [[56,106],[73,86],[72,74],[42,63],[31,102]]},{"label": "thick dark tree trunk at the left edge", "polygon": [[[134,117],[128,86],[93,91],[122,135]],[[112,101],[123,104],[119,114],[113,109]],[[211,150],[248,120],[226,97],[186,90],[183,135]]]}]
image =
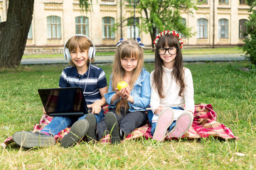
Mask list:
[{"label": "thick dark tree trunk at the left edge", "polygon": [[0,68],[21,64],[31,26],[34,0],[9,0],[6,22],[0,24]]}]

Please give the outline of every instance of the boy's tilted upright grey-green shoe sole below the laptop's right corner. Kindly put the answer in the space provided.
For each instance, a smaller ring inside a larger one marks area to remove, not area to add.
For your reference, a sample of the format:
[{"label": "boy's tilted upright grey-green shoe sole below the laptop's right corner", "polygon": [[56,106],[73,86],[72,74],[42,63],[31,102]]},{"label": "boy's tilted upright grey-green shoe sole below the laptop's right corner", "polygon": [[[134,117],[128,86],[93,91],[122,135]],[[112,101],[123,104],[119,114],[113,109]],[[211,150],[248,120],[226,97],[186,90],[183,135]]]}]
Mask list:
[{"label": "boy's tilted upright grey-green shoe sole below the laptop's right corner", "polygon": [[70,128],[70,131],[67,135],[65,135],[60,140],[60,145],[62,147],[71,147],[72,145],[75,145],[79,140],[84,137],[85,133],[87,132],[89,128],[89,123],[87,120],[82,119],[76,121]]}]

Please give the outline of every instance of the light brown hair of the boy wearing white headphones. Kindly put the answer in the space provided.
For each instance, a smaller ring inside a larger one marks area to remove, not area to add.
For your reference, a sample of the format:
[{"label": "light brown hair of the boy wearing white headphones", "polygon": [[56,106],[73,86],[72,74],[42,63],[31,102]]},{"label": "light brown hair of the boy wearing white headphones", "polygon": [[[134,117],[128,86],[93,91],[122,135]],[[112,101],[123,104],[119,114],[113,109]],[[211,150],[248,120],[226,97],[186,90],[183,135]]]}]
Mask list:
[{"label": "light brown hair of the boy wearing white headphones", "polygon": [[[86,50],[88,52],[89,48],[92,47],[92,42],[86,38],[85,36],[79,36],[79,35],[75,35],[72,38],[70,38],[67,42],[66,47],[68,48],[68,50],[71,52],[72,50],[76,50],[77,47],[80,48],[80,50]],[[91,60],[88,57],[87,60],[87,66],[89,66],[89,63],[94,62],[94,58],[92,58]],[[75,64],[70,60],[70,65],[75,67]]]}]

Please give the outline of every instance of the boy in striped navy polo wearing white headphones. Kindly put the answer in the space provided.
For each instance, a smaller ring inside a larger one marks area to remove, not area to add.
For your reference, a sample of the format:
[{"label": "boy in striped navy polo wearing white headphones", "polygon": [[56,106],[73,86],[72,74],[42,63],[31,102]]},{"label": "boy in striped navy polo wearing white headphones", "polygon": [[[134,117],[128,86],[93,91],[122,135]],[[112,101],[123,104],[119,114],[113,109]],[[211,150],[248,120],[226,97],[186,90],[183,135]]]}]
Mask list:
[{"label": "boy in striped navy polo wearing white headphones", "polygon": [[54,136],[71,125],[70,132],[60,141],[63,147],[70,147],[84,136],[87,136],[88,141],[96,140],[96,122],[100,122],[104,117],[102,106],[106,103],[104,94],[107,93],[107,79],[100,67],[90,64],[94,61],[95,45],[85,35],[73,35],[64,45],[64,56],[66,60],[70,60],[71,66],[63,69],[59,86],[60,88],[79,86],[84,89],[87,107],[92,109],[92,113],[80,118],[56,116],[41,132],[16,132],[13,139],[18,146],[25,148],[53,146]]}]

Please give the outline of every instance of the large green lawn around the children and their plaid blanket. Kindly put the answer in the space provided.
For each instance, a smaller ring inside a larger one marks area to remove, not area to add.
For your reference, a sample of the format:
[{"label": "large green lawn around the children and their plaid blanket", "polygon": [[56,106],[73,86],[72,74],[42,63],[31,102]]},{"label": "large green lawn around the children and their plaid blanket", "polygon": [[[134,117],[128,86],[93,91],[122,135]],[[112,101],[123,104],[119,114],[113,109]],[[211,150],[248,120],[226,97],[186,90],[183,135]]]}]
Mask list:
[{"label": "large green lawn around the children and their plaid blanket", "polygon": [[[0,69],[0,140],[32,130],[42,115],[37,89],[58,87],[65,64]],[[119,145],[82,142],[68,149],[0,147],[0,169],[256,169],[256,71],[247,62],[185,64],[193,74],[196,103],[210,103],[217,121],[239,140],[132,140]],[[107,78],[111,64],[100,65]],[[151,72],[154,64],[145,64]],[[245,154],[239,156],[237,153]]]}]

